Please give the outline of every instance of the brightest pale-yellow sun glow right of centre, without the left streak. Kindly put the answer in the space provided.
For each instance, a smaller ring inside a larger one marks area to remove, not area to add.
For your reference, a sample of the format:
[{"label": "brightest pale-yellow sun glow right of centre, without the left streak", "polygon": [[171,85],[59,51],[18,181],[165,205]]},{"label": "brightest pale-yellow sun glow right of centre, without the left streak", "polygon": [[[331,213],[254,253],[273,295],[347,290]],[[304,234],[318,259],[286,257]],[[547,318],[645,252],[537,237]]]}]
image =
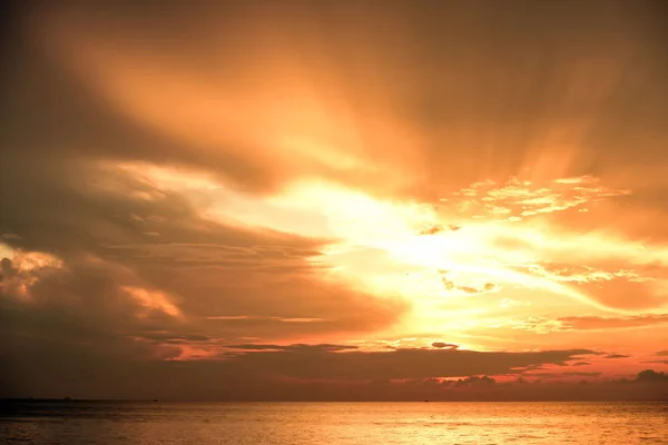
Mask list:
[{"label": "brightest pale-yellow sun glow right of centre, without the left streak", "polygon": [[[625,269],[597,269],[602,257],[616,258],[613,263],[630,261],[631,269],[652,257],[666,261],[668,256],[661,248],[640,256],[642,249],[637,243],[606,233],[569,233],[547,219],[530,219],[533,215],[574,210],[628,194],[598,185],[582,187],[596,182],[591,177],[569,178],[554,181],[559,192],[551,192],[544,187],[532,190],[530,182],[511,179],[509,185],[492,188],[487,195],[471,191],[474,188],[461,191],[462,198],[454,207],[458,210],[452,206],[442,208],[438,202],[383,201],[342,187],[308,182],[288,189],[275,202],[324,215],[338,243],[318,261],[331,264],[338,279],[365,291],[409,299],[416,318],[433,318],[444,301],[489,294],[509,298],[518,289],[561,298],[564,305],[571,300],[596,310],[632,314],[633,310],[601,303],[576,285],[626,276]],[[567,186],[574,191],[566,190]],[[471,200],[484,202],[485,218],[474,218],[473,212],[481,209],[472,210]],[[527,207],[533,210],[527,211]],[[523,216],[508,217],[513,212]],[[557,276],[542,266],[564,258],[583,268]],[[632,280],[633,274],[626,278]],[[480,299],[477,303],[480,307],[488,304]],[[441,315],[444,314],[446,310]],[[420,323],[423,320],[415,322]]]}]

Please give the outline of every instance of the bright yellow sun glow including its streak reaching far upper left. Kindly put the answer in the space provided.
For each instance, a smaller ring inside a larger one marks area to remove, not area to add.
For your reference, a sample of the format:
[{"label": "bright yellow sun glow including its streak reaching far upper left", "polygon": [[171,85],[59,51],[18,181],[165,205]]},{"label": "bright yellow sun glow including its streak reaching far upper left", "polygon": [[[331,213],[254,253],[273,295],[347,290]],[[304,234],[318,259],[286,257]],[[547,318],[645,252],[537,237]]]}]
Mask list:
[{"label": "bright yellow sun glow including its streak reaching far upper left", "polygon": [[[310,258],[322,278],[375,298],[409,301],[412,310],[402,330],[461,330],[479,322],[498,326],[508,308],[500,301],[514,301],[518,295],[541,298],[546,310],[586,305],[593,312],[635,314],[590,295],[586,286],[612,279],[644,284],[652,277],[637,268],[668,264],[660,246],[647,249],[601,230],[568,231],[552,221],[556,214],[596,208],[628,194],[592,177],[554,180],[552,188],[517,178],[480,181],[442,200],[418,202],[313,179],[257,197],[193,171],[125,168],[155,187],[206,201],[205,218],[328,239],[321,255]],[[513,310],[528,305],[520,300]]]}]

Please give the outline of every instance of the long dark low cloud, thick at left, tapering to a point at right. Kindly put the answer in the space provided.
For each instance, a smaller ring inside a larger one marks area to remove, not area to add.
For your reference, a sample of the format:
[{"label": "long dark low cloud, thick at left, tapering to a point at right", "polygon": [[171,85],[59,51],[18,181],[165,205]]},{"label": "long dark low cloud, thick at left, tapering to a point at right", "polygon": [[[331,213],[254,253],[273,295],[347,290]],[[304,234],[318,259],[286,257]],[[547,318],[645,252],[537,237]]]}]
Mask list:
[{"label": "long dark low cloud, thick at left, tapering to a point at right", "polygon": [[[17,313],[3,307],[8,319]],[[19,313],[20,314],[20,313]],[[50,322],[49,322],[50,320]],[[3,320],[6,322],[6,320]],[[46,322],[50,325],[45,324]],[[3,335],[0,355],[9,364],[3,374],[2,395],[57,396],[67,392],[73,397],[130,397],[160,394],[163,398],[225,398],[233,392],[259,396],[255,387],[281,388],[281,382],[364,382],[424,379],[431,377],[479,376],[511,373],[529,365],[560,364],[577,356],[593,354],[586,349],[538,353],[478,353],[444,349],[396,349],[362,352],[344,345],[229,345],[237,350],[220,359],[173,360],[179,354],[170,339],[187,339],[190,345],[202,336],[167,336],[160,332],[145,334],[163,343],[160,355],[146,342],[110,334],[97,320],[88,324],[62,315],[39,320],[39,326],[58,335]],[[18,322],[14,322],[18,323]],[[20,323],[21,326],[27,326]],[[4,334],[7,325],[2,326]],[[39,365],[38,365],[39,364]],[[42,373],[49,369],[49,373]],[[127,378],[131,375],[132,378]],[[178,387],[171,383],[179,382]],[[298,385],[297,385],[298,387]],[[151,396],[155,397],[155,396]],[[301,393],[308,399],[312,393]]]}]

